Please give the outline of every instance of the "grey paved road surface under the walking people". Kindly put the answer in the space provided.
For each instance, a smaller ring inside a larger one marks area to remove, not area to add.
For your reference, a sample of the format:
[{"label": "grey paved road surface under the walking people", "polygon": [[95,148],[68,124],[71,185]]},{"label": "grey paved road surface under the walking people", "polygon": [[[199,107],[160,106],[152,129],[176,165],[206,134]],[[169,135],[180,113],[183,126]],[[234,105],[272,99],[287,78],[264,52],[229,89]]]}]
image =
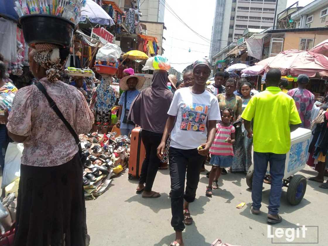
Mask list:
[{"label": "grey paved road surface under the walking people", "polygon": [[[305,177],[316,173],[308,167],[299,172]],[[305,238],[295,239],[294,244],[271,244],[266,223],[270,185],[264,184],[262,214],[251,215],[251,191],[246,185],[245,174],[228,173],[222,176],[219,180],[220,189],[214,191],[212,198],[205,196],[208,182],[205,174],[201,173],[196,200],[190,206],[195,223],[187,226],[183,233],[186,246],[210,246],[215,238],[243,246],[327,245],[328,191],[318,188],[317,182],[308,181],[305,196],[297,206],[287,203],[287,188],[283,188],[280,215],[284,220],[280,225],[290,228],[295,228],[297,224],[318,226],[318,231],[316,227],[308,227]],[[128,180],[126,172],[114,178],[109,190],[103,195],[86,202],[91,246],[163,246],[170,245],[174,240],[174,231],[170,225],[169,171],[161,170],[156,176],[154,190],[162,194],[160,198],[144,199],[136,195],[136,184],[137,180]],[[246,202],[247,205],[236,209],[240,202]],[[285,237],[283,242],[286,242]],[[316,242],[317,239],[317,244],[303,244]],[[273,238],[273,242],[281,240]]]}]

